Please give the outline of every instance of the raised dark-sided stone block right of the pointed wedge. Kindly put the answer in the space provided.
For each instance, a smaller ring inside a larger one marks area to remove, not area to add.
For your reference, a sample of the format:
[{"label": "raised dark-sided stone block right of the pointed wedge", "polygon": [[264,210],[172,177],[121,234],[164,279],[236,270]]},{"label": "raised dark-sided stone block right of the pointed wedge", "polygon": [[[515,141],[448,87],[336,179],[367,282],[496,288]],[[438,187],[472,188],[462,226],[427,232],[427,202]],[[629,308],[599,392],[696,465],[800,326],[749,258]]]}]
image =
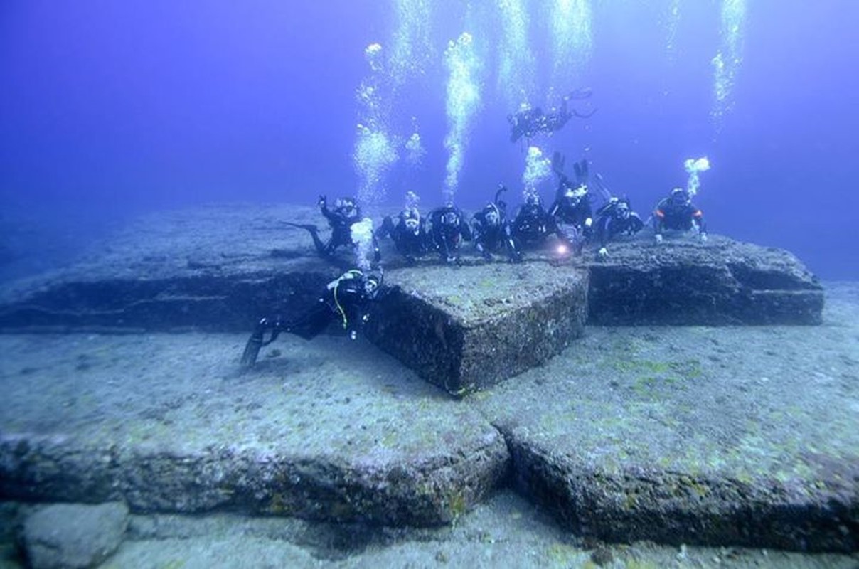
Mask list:
[{"label": "raised dark-sided stone block right of the pointed wedge", "polygon": [[823,288],[783,249],[711,236],[612,243],[590,264],[590,322],[602,325],[819,324]]}]

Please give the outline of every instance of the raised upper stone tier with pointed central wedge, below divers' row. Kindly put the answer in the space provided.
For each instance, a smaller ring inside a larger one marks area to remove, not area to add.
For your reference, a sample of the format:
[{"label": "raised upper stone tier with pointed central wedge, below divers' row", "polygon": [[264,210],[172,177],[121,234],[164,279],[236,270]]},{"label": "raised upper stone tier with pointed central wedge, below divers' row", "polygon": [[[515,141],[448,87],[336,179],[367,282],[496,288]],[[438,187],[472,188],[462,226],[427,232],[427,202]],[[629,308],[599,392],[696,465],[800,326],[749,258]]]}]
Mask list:
[{"label": "raised upper stone tier with pointed central wedge, below divers' row", "polygon": [[[250,331],[289,320],[354,260],[321,260],[294,223],[314,208],[210,207],[149,217],[74,266],[0,294],[0,331]],[[379,213],[376,217],[381,217]],[[468,244],[458,266],[405,263],[383,243],[386,284],[369,338],[449,393],[515,376],[593,324],[819,324],[823,291],[788,252],[715,236],[646,238],[518,265],[486,263]]]}]

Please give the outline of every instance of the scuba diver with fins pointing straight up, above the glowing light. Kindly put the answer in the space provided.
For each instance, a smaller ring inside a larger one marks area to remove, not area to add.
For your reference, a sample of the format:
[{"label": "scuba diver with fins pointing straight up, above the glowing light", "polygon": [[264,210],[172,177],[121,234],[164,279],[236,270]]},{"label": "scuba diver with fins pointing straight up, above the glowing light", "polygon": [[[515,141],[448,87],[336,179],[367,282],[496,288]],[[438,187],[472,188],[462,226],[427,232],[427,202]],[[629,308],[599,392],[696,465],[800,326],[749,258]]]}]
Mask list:
[{"label": "scuba diver with fins pointing straight up, above the glowing light", "polygon": [[585,241],[593,233],[594,224],[594,210],[591,207],[593,195],[588,189],[588,161],[573,164],[575,183],[564,174],[564,156],[560,152],[552,156],[551,167],[557,174],[558,184],[549,214],[557,220],[558,228],[565,234],[566,240],[576,245],[576,252],[581,252]]}]

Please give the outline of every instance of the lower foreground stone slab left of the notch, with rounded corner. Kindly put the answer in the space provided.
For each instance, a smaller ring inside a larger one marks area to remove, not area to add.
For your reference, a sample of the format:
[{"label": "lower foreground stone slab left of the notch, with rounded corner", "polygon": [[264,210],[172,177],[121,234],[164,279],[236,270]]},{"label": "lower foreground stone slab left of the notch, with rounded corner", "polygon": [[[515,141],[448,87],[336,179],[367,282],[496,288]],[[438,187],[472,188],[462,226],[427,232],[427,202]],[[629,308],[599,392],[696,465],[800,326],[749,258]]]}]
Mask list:
[{"label": "lower foreground stone slab left of the notch, with rounded corner", "polygon": [[0,500],[425,526],[507,475],[492,425],[372,346],[288,338],[242,373],[245,340],[0,336]]}]

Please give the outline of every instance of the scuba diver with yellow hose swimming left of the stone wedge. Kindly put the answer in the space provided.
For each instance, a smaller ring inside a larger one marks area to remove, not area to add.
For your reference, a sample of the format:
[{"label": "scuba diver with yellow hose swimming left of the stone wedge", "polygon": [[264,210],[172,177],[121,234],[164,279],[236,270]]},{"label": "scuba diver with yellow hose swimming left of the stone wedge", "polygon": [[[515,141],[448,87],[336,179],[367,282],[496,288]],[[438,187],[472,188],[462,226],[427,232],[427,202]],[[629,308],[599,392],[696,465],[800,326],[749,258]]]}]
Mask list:
[{"label": "scuba diver with yellow hose swimming left of the stone wedge", "polygon": [[[355,340],[358,329],[369,319],[369,303],[379,297],[381,286],[381,274],[366,275],[353,269],[328,283],[319,301],[308,307],[295,321],[282,321],[280,316],[259,319],[241,355],[241,365],[253,366],[259,356],[259,349],[277,340],[280,333],[294,333],[304,340],[313,340],[332,321],[340,321],[350,339]],[[268,340],[264,340],[266,333],[271,333]]]}]

